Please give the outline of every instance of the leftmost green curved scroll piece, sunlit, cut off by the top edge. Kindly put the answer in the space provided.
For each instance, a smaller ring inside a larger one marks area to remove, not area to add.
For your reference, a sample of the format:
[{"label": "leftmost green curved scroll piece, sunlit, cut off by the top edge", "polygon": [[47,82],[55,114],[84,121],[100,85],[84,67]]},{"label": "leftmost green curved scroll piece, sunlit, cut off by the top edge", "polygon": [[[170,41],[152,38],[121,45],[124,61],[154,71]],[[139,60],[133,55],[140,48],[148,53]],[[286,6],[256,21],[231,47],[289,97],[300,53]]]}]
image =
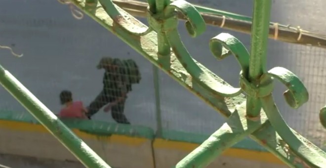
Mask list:
[{"label": "leftmost green curved scroll piece, sunlit, cut off by the top edge", "polygon": [[122,15],[112,0],[99,0],[106,13],[119,24],[124,30],[135,36],[144,36],[150,33],[152,28],[140,27],[133,24],[127,15]]}]

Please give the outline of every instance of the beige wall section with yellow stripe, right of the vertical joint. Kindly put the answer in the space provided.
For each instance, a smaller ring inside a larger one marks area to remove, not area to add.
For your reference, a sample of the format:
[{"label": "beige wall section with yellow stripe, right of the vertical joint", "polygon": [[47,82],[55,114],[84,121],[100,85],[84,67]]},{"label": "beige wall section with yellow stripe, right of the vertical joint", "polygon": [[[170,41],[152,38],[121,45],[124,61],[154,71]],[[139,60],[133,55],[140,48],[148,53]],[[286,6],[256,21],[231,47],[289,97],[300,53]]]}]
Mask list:
[{"label": "beige wall section with yellow stripe, right of the vertical joint", "polygon": [[[155,139],[156,168],[171,168],[196,149],[199,144]],[[214,160],[207,168],[287,168],[268,152],[231,148]]]}]

